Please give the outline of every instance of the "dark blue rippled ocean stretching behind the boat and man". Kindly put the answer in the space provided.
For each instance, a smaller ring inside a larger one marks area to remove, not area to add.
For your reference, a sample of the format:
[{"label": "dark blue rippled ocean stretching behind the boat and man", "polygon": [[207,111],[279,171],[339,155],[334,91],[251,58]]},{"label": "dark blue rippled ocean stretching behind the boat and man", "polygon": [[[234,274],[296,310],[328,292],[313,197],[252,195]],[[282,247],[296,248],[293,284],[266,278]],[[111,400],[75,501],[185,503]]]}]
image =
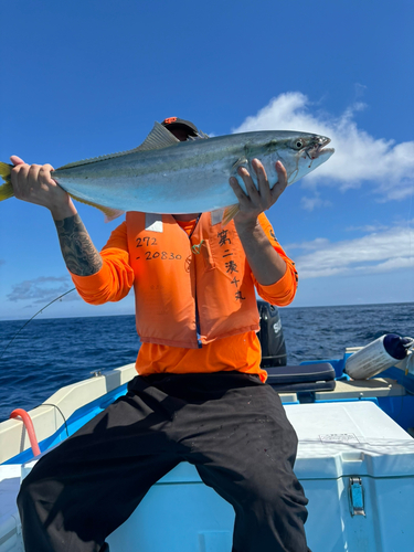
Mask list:
[{"label": "dark blue rippled ocean stretching behind the boat and man", "polygon": [[[414,337],[414,304],[279,309],[288,363],[340,359],[384,333]],[[139,349],[134,316],[0,321],[0,422],[26,411],[96,370],[134,362]],[[4,351],[4,349],[7,350]]]}]

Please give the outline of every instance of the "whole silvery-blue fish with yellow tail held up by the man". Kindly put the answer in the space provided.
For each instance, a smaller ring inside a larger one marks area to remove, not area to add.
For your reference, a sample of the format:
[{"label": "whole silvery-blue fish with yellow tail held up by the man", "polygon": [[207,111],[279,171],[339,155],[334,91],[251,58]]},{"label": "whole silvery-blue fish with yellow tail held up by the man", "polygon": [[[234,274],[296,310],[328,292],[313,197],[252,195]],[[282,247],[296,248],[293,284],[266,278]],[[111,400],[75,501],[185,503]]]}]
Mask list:
[{"label": "whole silvery-blue fish with yellow tail held up by the man", "polygon": [[[276,161],[284,164],[288,185],[320,167],[333,153],[330,138],[294,130],[262,130],[208,137],[203,132],[178,140],[155,123],[145,141],[135,149],[85,159],[51,173],[73,199],[93,205],[113,220],[126,211],[177,214],[224,210],[225,225],[238,211],[229,179],[235,177],[246,192],[237,170],[245,167],[257,188],[252,167],[259,159],[270,188],[278,180]],[[0,201],[11,198],[12,166],[0,162]]]}]

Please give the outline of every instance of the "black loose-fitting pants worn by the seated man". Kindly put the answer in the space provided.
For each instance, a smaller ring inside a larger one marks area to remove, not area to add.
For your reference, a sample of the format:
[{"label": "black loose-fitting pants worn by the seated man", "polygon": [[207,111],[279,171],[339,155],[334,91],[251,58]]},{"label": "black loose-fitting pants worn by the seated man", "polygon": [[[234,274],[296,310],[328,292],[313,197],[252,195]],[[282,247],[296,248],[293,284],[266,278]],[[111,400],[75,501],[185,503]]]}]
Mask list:
[{"label": "black loose-fitting pants worn by the seated man", "polygon": [[233,552],[308,552],[296,449],[278,395],[255,375],[137,376],[24,479],[25,552],[98,552],[182,460],[233,506]]}]

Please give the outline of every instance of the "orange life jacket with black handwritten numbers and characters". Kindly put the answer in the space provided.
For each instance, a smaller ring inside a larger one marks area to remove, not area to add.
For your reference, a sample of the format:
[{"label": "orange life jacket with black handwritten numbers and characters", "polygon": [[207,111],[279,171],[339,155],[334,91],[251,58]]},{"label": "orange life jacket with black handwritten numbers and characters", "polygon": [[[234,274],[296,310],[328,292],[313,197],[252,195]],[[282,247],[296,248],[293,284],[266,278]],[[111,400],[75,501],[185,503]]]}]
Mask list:
[{"label": "orange life jacket with black handwritten numbers and characters", "polygon": [[234,223],[201,214],[188,234],[172,215],[128,212],[136,322],[144,342],[195,349],[259,329],[254,283]]}]

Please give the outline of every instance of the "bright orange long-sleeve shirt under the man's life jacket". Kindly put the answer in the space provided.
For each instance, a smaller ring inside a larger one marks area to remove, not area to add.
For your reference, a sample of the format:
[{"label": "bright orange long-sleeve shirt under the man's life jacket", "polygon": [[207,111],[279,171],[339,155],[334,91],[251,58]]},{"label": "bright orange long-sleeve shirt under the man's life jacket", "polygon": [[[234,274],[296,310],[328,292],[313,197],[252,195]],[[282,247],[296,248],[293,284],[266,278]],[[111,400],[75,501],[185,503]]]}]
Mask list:
[{"label": "bright orange long-sleeve shirt under the man's life jacket", "polygon": [[[285,275],[270,286],[259,285],[252,278],[259,296],[278,306],[291,302],[297,288],[297,273],[294,263],[275,240],[272,225],[266,216],[259,217],[261,224],[273,243],[276,252],[286,262]],[[190,234],[195,221],[179,222]],[[103,267],[92,276],[77,276],[72,279],[77,291],[86,302],[102,305],[118,301],[128,295],[134,284],[134,270],[129,265],[127,225],[120,224],[112,233],[107,244],[100,252]],[[183,349],[155,343],[142,343],[136,369],[140,375],[151,373],[219,372],[237,370],[244,373],[258,374],[266,381],[267,373],[259,367],[261,344],[254,331],[216,339],[200,349]]]}]

